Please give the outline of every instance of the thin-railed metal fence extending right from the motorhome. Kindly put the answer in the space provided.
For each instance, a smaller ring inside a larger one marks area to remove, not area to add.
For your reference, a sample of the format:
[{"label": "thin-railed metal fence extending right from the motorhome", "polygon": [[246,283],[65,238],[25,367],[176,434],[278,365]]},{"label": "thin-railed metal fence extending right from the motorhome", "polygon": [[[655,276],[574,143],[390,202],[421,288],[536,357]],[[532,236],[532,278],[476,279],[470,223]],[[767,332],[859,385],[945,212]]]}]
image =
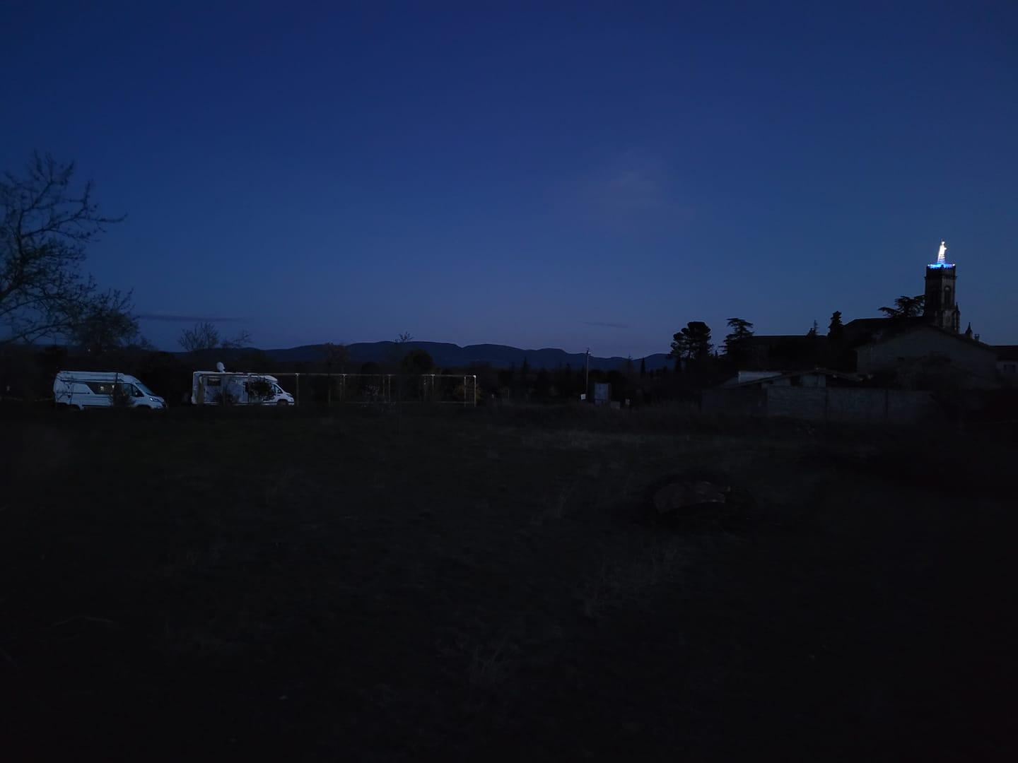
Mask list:
[{"label": "thin-railed metal fence extending right from the motorhome", "polygon": [[301,404],[430,403],[475,407],[480,391],[472,373],[298,373],[271,375]]}]

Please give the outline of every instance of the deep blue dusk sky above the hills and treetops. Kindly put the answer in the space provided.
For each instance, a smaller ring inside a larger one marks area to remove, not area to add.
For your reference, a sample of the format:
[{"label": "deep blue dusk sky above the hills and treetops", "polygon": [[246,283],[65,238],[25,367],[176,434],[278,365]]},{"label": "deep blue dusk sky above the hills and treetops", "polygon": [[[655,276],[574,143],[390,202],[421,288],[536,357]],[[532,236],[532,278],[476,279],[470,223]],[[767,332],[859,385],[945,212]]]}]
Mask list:
[{"label": "deep blue dusk sky above the hills and treetops", "polygon": [[0,167],[74,159],[89,270],[262,347],[799,334],[942,238],[1018,343],[1018,5],[831,5],[7,0]]}]

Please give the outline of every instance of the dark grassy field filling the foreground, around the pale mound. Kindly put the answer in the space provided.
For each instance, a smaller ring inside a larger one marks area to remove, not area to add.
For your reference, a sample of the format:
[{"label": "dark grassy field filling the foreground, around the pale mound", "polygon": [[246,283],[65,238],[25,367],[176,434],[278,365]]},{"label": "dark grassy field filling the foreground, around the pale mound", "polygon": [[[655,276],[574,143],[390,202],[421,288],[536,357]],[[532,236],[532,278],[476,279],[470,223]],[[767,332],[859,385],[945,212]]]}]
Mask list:
[{"label": "dark grassy field filling the foreground, around the pale mound", "polygon": [[[987,435],[177,409],[0,449],[5,761],[1016,759]],[[740,501],[656,524],[671,475]]]}]

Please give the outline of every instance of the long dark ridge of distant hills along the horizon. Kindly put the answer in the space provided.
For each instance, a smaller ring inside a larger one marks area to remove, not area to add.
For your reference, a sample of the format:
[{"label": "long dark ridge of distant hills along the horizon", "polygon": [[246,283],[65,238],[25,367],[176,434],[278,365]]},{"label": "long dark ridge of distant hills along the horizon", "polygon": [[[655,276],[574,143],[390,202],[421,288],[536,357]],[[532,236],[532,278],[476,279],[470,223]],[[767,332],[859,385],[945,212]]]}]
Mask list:
[{"label": "long dark ridge of distant hills along the horizon", "polygon": [[[320,361],[324,357],[323,345],[302,345],[300,347],[290,347],[287,349],[266,350],[266,353],[273,360],[280,362],[300,362]],[[521,350],[518,347],[507,345],[459,345],[446,342],[407,342],[403,347],[396,348],[395,342],[357,342],[346,345],[350,353],[350,363],[385,363],[391,362],[393,357],[400,352],[409,349],[420,348],[427,350],[434,358],[435,364],[440,367],[464,367],[471,363],[488,363],[493,368],[509,368],[510,366],[522,365],[523,360],[531,368],[554,368],[570,365],[573,368],[582,368],[584,356],[581,352],[566,352],[544,348],[541,350]],[[643,359],[646,369],[655,370],[663,368],[672,363],[665,353],[647,355]],[[638,368],[640,358],[633,358],[633,364]],[[599,358],[590,356],[590,368],[600,370],[614,370],[625,367],[626,358],[611,357]]]}]

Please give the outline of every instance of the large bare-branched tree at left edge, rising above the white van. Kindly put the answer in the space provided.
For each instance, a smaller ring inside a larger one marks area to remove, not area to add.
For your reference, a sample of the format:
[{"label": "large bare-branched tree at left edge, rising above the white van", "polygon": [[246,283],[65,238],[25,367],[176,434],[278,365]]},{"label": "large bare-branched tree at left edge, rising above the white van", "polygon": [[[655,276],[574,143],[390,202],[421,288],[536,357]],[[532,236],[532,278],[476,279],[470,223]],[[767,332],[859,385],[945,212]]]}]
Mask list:
[{"label": "large bare-branched tree at left edge, rising above the white van", "polygon": [[92,181],[74,190],[73,177],[73,163],[35,154],[23,176],[0,179],[0,344],[92,334],[81,321],[102,320],[106,340],[137,333],[130,294],[100,293],[79,272],[88,245],[123,217],[101,215]]}]

